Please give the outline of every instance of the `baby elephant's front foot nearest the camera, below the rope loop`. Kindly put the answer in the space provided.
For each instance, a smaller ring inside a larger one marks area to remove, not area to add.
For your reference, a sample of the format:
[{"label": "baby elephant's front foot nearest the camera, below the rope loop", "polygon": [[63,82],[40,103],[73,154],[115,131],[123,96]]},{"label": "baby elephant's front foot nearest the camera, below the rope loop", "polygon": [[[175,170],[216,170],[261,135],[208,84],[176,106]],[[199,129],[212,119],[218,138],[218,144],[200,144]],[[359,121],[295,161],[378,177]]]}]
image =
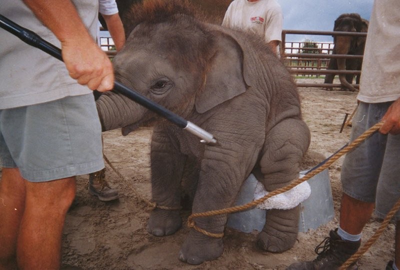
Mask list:
[{"label": "baby elephant's front foot nearest the camera, below the rope loop", "polygon": [[179,259],[189,264],[213,260],[223,252],[222,238],[206,236],[191,229],[179,251]]}]

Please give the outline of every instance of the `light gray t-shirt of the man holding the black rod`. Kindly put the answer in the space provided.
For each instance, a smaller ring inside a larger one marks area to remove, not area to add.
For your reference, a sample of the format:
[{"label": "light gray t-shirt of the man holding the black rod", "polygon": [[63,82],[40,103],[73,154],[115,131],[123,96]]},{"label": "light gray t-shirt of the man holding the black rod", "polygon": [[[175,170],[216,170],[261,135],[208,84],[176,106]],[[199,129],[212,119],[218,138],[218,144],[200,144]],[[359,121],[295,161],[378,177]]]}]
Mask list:
[{"label": "light gray t-shirt of the man holding the black rod", "polygon": [[[93,41],[97,32],[98,0],[72,0]],[[1,0],[0,14],[60,47],[55,35],[21,0]],[[72,79],[63,62],[0,28],[0,109],[43,103],[90,93]]]}]

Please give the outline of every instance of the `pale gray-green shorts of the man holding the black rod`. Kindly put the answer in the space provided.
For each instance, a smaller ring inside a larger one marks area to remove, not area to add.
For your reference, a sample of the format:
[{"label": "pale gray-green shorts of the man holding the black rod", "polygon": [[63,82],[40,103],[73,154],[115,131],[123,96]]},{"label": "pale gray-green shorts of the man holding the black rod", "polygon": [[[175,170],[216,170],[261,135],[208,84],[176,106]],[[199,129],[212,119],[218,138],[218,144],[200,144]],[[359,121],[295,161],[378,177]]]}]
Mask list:
[{"label": "pale gray-green shorts of the man holding the black rod", "polygon": [[93,95],[0,110],[0,162],[19,168],[22,177],[32,182],[103,168]]}]

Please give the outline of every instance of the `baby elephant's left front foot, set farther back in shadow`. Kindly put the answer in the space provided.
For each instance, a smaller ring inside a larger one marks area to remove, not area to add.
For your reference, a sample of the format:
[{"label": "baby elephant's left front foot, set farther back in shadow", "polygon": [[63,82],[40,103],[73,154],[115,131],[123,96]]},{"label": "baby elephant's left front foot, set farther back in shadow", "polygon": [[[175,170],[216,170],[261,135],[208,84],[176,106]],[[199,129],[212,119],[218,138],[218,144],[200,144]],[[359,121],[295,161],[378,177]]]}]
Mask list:
[{"label": "baby elephant's left front foot, set farther back in shadow", "polygon": [[178,210],[154,209],[147,222],[147,231],[155,236],[169,235],[182,226]]}]

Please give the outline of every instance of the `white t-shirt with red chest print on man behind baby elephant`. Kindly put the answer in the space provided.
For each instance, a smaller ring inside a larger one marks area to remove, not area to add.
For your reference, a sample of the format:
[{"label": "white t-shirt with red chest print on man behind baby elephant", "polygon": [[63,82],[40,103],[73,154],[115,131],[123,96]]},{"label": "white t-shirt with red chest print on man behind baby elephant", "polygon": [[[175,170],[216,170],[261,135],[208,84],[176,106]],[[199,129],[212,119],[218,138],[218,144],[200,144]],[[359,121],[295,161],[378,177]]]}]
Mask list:
[{"label": "white t-shirt with red chest print on man behind baby elephant", "polygon": [[283,15],[276,0],[234,0],[228,6],[222,25],[231,29],[250,30],[265,42],[281,41]]}]

